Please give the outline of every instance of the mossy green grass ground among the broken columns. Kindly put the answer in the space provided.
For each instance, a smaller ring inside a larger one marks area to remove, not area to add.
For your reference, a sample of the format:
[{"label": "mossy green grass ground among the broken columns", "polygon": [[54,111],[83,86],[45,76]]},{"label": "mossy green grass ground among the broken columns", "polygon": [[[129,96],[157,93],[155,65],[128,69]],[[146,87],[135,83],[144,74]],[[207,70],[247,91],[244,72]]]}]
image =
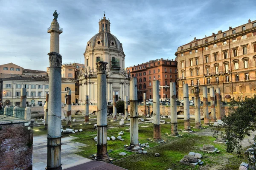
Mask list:
[{"label": "mossy green grass ground among the broken columns", "polygon": [[[90,115],[90,119],[96,117],[96,115]],[[78,133],[70,133],[68,135],[77,137],[74,139],[74,142],[80,142],[83,144],[89,145],[88,147],[80,148],[82,151],[76,154],[83,157],[90,157],[92,154],[97,152],[96,142],[94,142],[93,138],[97,134],[97,130],[94,129],[94,124],[96,120],[91,120],[91,125],[84,125],[83,119],[84,117],[81,115],[75,115],[73,118],[76,118],[78,122],[72,122],[72,129],[83,129],[83,132]],[[145,117],[143,117],[145,119]],[[79,121],[81,120],[81,121]],[[170,122],[170,119],[164,119],[165,122]],[[125,120],[125,124],[129,124],[129,121]],[[203,124],[203,121],[201,121]],[[62,125],[64,125],[64,129],[67,128],[66,121],[62,121]],[[191,126],[194,127],[195,120],[191,120]],[[148,126],[148,127],[141,127]],[[117,127],[117,128],[109,128],[109,127]],[[203,126],[204,127],[204,126]],[[113,150],[109,152],[109,156],[113,158],[113,164],[123,167],[128,170],[167,170],[171,168],[172,170],[234,170],[239,169],[239,165],[241,162],[246,162],[245,157],[237,157],[235,153],[227,153],[226,146],[224,144],[215,144],[213,141],[215,138],[212,136],[199,135],[201,133],[184,133],[181,130],[184,128],[183,119],[178,119],[178,132],[181,137],[172,137],[168,136],[165,133],[171,132],[171,124],[161,125],[161,136],[163,140],[166,140],[165,144],[157,144],[148,138],[153,139],[153,124],[140,122],[139,124],[139,141],[140,143],[149,143],[149,148],[145,148],[147,150],[147,154],[136,154],[125,149],[124,145],[130,144],[130,132],[128,131],[129,125],[119,125],[119,121],[111,122],[111,119],[108,119],[108,136],[112,135],[117,137],[120,131],[124,131],[124,135],[122,139],[124,141],[119,140],[109,140],[108,141],[108,150]],[[214,128],[207,127],[204,128]],[[47,130],[43,130],[43,127],[35,127],[34,129],[38,130],[34,133],[34,135],[40,135],[47,133]],[[204,131],[204,129],[192,129],[195,132]],[[203,147],[204,144],[212,144],[220,153],[204,153],[200,151],[200,148]],[[180,164],[180,160],[184,155],[188,154],[190,151],[195,153],[200,153],[202,157],[202,161],[204,164],[201,166],[191,167],[188,165]],[[127,153],[126,156],[119,156],[120,152]],[[160,153],[160,157],[155,157],[154,153]],[[131,156],[132,155],[132,156]],[[127,157],[129,156],[129,157]],[[127,157],[127,158],[125,158]],[[125,158],[125,159],[122,159]],[[119,160],[121,159],[121,160]]]}]

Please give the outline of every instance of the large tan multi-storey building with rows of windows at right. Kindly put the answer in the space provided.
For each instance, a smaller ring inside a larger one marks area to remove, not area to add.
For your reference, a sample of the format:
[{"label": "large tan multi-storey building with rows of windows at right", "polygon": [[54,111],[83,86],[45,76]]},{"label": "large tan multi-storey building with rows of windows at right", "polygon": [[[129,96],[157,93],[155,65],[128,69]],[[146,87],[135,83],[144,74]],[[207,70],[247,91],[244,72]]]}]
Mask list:
[{"label": "large tan multi-storey building with rows of windows at right", "polygon": [[[221,98],[255,94],[256,87],[256,21],[229,27],[178,47],[178,92],[183,97],[183,83],[189,85],[189,99],[194,99],[193,85],[220,88]],[[209,95],[208,95],[209,98]]]}]

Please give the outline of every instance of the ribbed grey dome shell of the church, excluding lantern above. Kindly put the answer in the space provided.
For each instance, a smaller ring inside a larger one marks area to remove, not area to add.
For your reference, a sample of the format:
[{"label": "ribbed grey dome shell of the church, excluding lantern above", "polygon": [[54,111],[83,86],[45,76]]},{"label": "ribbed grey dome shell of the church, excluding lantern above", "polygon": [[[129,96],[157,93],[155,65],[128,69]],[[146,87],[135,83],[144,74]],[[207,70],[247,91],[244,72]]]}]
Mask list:
[{"label": "ribbed grey dome shell of the church, excluding lantern above", "polygon": [[99,32],[98,34],[94,35],[88,42],[86,50],[89,48],[112,48],[113,50],[116,49],[117,51],[122,51],[122,44],[119,40],[110,32]]}]

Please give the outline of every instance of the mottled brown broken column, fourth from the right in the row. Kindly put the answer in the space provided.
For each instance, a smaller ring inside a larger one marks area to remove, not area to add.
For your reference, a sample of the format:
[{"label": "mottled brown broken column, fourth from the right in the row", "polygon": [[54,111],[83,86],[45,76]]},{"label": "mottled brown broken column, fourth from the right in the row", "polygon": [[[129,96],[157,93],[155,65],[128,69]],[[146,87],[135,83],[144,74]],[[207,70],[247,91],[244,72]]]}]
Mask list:
[{"label": "mottled brown broken column, fourth from the right in the row", "polygon": [[195,90],[195,128],[202,128],[201,126],[201,115],[200,115],[200,97],[198,85],[194,85]]}]

